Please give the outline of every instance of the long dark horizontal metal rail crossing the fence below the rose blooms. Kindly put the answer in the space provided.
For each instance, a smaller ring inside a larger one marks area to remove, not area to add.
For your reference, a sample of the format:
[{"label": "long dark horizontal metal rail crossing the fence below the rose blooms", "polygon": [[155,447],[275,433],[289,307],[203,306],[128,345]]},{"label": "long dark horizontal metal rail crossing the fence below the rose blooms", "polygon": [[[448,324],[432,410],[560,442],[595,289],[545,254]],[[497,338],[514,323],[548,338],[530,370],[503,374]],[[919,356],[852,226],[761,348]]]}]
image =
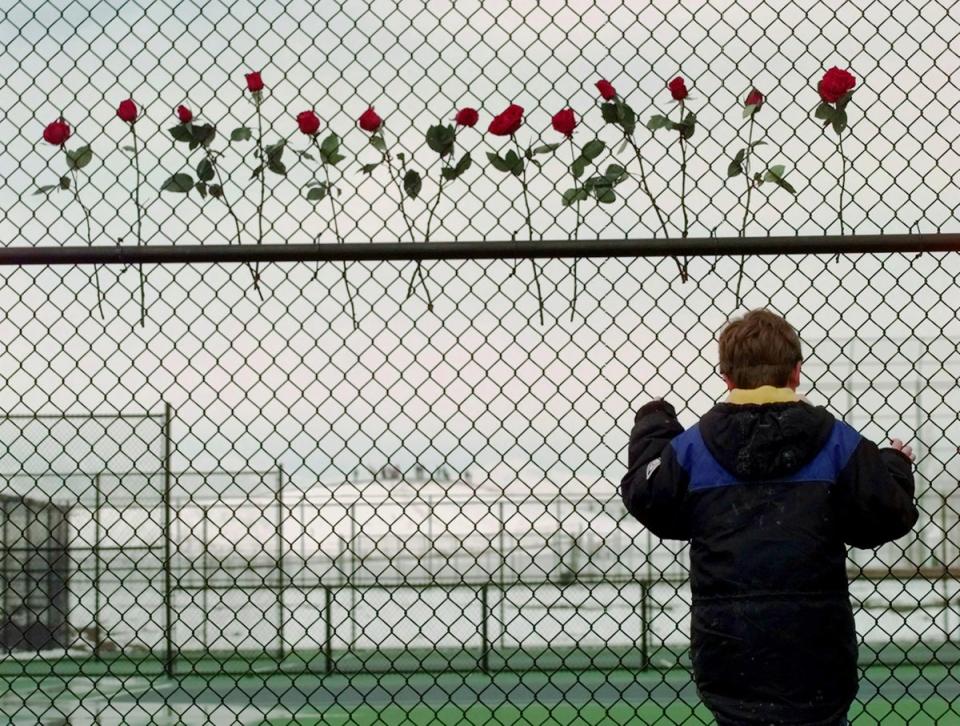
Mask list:
[{"label": "long dark horizontal metal rail crossing the fence below the rose blooms", "polygon": [[952,252],[960,233],[489,242],[0,247],[0,265],[131,265],[378,260]]}]

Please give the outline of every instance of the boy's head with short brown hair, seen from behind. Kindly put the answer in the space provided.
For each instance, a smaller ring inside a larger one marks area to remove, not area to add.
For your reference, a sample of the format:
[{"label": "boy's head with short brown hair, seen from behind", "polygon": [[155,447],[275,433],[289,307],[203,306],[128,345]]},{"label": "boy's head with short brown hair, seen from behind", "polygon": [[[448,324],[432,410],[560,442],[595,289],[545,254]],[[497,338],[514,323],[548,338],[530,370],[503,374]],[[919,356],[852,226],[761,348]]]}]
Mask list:
[{"label": "boy's head with short brown hair, seen from behind", "polygon": [[751,310],[720,333],[720,373],[727,388],[800,385],[800,336],[769,310]]}]

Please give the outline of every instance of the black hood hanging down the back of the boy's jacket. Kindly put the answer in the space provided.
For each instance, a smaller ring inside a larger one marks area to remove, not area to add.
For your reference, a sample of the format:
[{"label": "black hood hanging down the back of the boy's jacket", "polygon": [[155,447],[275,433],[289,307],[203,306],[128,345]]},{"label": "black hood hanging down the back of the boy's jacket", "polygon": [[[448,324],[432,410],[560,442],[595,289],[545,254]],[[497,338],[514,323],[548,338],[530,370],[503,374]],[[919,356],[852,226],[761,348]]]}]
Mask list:
[{"label": "black hood hanging down the back of the boy's jacket", "polygon": [[700,420],[700,433],[724,469],[756,481],[789,476],[809,463],[834,422],[827,409],[800,401],[720,403]]}]

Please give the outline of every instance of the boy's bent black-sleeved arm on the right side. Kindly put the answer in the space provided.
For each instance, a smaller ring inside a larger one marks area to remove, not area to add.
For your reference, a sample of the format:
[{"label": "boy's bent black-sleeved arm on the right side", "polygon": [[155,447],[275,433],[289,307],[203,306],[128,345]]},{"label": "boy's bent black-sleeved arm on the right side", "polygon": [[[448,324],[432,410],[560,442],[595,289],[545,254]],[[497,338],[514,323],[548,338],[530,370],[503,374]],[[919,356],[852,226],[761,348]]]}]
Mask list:
[{"label": "boy's bent black-sleeved arm on the right side", "polygon": [[840,528],[852,547],[872,549],[903,537],[916,524],[913,462],[861,438],[837,479]]}]

